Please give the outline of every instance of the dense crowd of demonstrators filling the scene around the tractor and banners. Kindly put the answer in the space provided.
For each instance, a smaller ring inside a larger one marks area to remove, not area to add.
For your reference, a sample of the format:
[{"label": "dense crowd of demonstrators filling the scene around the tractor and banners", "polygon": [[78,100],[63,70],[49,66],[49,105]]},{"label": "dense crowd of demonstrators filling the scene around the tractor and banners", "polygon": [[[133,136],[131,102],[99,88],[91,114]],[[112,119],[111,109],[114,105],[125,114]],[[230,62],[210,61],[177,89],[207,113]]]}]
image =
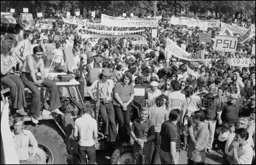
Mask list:
[{"label": "dense crowd of demonstrators filling the scene around the tractor and banners", "polygon": [[[97,102],[99,93],[107,141],[127,146],[134,140],[136,164],[179,164],[180,150],[188,152],[189,164],[204,164],[206,152],[212,154],[214,148],[223,155],[223,164],[254,164],[255,36],[237,43],[236,52],[214,51],[214,36],[220,28],[208,28],[212,42],[203,44],[198,27],[174,26],[163,20],[157,38],[145,28],[142,35],[148,44],[143,46],[132,45],[138,38],[82,38],[83,29],[58,20],[52,20],[50,27],[36,20],[32,28],[14,37],[1,33],[1,83],[10,88],[15,113],[27,115],[25,85],[33,95],[31,120],[38,123],[43,102],[38,85],[44,85],[51,100],[50,105],[43,103],[44,109],[63,115],[56,83],[45,77],[45,68],[54,60],[55,72],[79,79],[82,70],[92,102]],[[166,58],[166,37],[189,53],[205,49],[204,61]],[[70,58],[75,66],[70,66]],[[234,67],[231,58],[250,59],[250,67]],[[130,124],[131,105],[137,103],[139,118]],[[87,111],[84,108],[83,120],[76,121],[75,137],[80,134],[79,163],[84,164],[84,153],[88,153],[94,164],[95,150],[90,147],[95,145],[97,124]]]}]

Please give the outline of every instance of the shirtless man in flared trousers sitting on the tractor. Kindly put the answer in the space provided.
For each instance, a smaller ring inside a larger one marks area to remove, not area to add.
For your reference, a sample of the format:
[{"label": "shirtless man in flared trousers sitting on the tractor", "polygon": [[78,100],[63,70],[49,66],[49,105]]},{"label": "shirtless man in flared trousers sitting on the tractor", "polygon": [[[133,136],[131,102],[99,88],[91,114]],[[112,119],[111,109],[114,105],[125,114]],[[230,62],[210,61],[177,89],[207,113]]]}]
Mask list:
[{"label": "shirtless man in flared trousers sitting on the tractor", "polygon": [[[37,118],[40,116],[41,109],[41,99],[40,99],[40,91],[38,90],[39,84],[42,84],[47,87],[47,90],[50,91],[50,105],[46,102],[44,103],[44,107],[48,111],[52,111],[54,113],[63,114],[58,109],[61,107],[60,95],[58,93],[58,88],[56,83],[51,80],[45,78],[45,70],[44,70],[44,60],[42,59],[42,55],[44,54],[44,50],[41,46],[36,46],[33,48],[33,54],[26,56],[24,64],[21,68],[20,78],[25,86],[32,91],[32,102],[31,102],[31,120],[33,123],[38,123]],[[36,75],[40,72],[41,76]]]}]

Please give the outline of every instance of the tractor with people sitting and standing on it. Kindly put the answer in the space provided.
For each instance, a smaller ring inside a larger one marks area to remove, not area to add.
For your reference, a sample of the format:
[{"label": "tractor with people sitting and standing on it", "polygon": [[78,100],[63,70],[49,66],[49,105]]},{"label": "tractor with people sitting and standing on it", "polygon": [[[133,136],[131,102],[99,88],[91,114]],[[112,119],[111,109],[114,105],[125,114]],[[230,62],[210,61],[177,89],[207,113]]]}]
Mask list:
[{"label": "tractor with people sitting and standing on it", "polygon": [[[51,76],[54,77],[56,81],[56,76],[60,76],[61,73],[51,73]],[[62,74],[62,76],[68,76]],[[53,80],[54,80],[53,79]],[[74,133],[74,123],[77,118],[81,116],[81,108],[84,104],[91,104],[91,107],[95,113],[95,119],[98,122],[98,142],[95,147],[96,150],[106,149],[109,146],[109,143],[104,139],[104,135],[101,131],[102,118],[97,111],[97,104],[99,102],[91,102],[88,93],[86,93],[86,86],[84,88],[84,98],[81,96],[79,91],[79,82],[69,81],[69,82],[56,82],[58,90],[61,97],[61,108],[60,110],[65,114],[61,116],[60,114],[51,114],[46,118],[40,116],[38,118],[39,123],[34,124],[31,122],[29,116],[24,116],[25,129],[31,130],[33,135],[38,141],[38,152],[36,152],[36,164],[72,164],[72,155],[77,153],[77,141],[72,141]],[[44,100],[47,102],[48,91],[45,90],[44,86],[38,86]],[[1,94],[4,97],[10,96],[10,89],[5,86],[1,86]],[[25,86],[25,97],[28,104],[31,102],[31,91]],[[10,98],[10,97],[9,97]],[[12,103],[10,102],[10,111],[12,111]],[[132,114],[131,122],[138,118],[140,115],[140,104],[138,102],[132,103]],[[10,129],[13,129],[12,126],[13,118],[10,119],[9,125]],[[116,143],[116,150],[113,152],[111,157],[111,164],[133,164],[134,157],[132,153],[132,146],[121,146],[120,143]],[[69,159],[68,159],[69,158]],[[76,162],[74,162],[76,163]]]}]

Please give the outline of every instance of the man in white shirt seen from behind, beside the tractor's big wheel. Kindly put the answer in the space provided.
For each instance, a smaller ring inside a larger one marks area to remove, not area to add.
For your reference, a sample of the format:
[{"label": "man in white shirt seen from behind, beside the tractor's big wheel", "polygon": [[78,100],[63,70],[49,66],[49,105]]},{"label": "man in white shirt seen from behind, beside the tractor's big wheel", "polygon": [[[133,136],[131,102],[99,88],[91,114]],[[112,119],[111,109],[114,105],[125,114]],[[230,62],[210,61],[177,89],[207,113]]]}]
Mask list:
[{"label": "man in white shirt seen from behind, beside the tractor's big wheel", "polygon": [[85,105],[82,108],[82,113],[83,116],[77,118],[75,122],[74,130],[75,138],[77,138],[79,134],[78,164],[86,163],[86,154],[88,156],[88,164],[95,164],[95,141],[97,143],[98,138],[97,122],[91,116],[92,111],[90,105]]}]

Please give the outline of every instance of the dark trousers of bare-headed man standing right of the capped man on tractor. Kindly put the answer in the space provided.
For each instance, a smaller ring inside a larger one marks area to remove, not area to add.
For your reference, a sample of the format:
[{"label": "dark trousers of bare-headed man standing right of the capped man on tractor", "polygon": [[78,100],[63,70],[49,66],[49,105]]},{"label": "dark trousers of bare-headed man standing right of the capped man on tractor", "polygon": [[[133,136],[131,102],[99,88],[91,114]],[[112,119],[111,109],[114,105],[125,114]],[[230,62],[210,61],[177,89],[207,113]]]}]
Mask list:
[{"label": "dark trousers of bare-headed man standing right of the capped man on tractor", "polygon": [[118,136],[121,142],[129,142],[131,140],[130,132],[130,118],[131,118],[131,105],[127,106],[124,111],[122,107],[114,106],[115,116],[118,122]]}]

